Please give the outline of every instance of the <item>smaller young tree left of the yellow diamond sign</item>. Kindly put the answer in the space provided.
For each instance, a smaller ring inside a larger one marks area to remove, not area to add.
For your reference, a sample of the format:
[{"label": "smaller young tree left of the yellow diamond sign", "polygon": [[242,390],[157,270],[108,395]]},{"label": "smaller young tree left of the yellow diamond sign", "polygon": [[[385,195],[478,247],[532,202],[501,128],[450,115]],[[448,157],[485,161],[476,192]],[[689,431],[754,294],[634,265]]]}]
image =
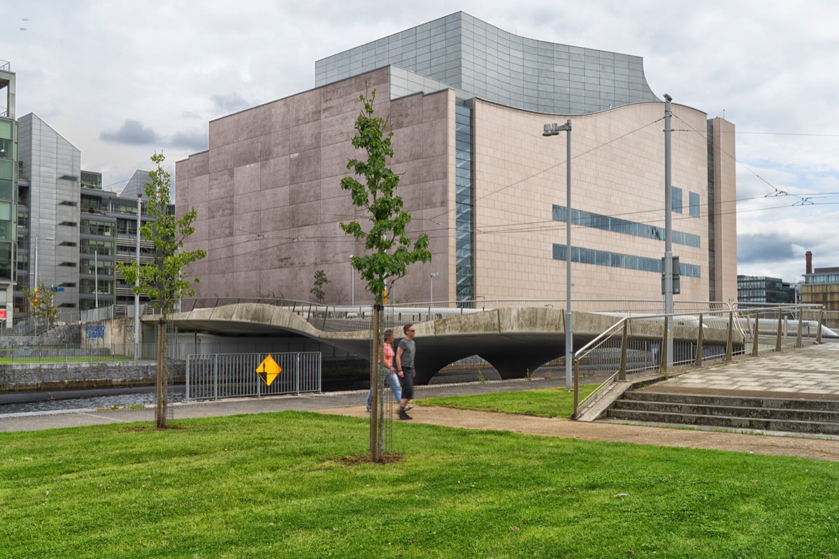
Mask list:
[{"label": "smaller young tree left of the yellow diamond sign", "polygon": [[[185,239],[195,232],[192,222],[197,213],[192,208],[185,215],[176,218],[170,210],[171,203],[171,175],[163,168],[165,161],[163,153],[155,153],[151,157],[154,170],[149,172],[149,182],[145,184],[145,194],[148,198],[146,209],[151,221],[140,228],[143,240],[151,241],[154,246],[154,260],[141,266],[137,262],[131,264],[118,263],[117,269],[128,283],[134,283],[139,277],[139,285],[133,291],[145,295],[159,313],[158,320],[158,370],[157,370],[157,407],[155,421],[157,427],[166,427],[166,392],[169,384],[169,365],[166,362],[166,323],[169,314],[175,308],[175,303],[181,298],[192,297],[195,289],[192,286],[201,282],[195,277],[190,282],[186,268],[195,261],[206,256],[206,252],[198,249],[183,251]],[[140,216],[137,216],[140,219]]]}]

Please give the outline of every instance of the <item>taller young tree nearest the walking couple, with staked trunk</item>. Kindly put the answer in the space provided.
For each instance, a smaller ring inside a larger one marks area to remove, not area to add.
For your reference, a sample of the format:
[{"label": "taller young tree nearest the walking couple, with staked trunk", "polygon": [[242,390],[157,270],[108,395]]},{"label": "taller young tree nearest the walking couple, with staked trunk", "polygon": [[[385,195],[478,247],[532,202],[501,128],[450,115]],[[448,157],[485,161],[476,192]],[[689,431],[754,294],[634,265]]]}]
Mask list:
[{"label": "taller young tree nearest the walking couple, with staked trunk", "polygon": [[370,458],[381,460],[383,443],[381,427],[383,412],[378,408],[378,359],[382,352],[381,313],[387,292],[388,282],[403,277],[408,265],[417,261],[428,262],[431,253],[428,250],[428,236],[421,235],[411,245],[406,233],[410,223],[410,214],[403,210],[403,201],[396,194],[399,187],[399,175],[388,168],[388,159],[393,158],[391,140],[393,131],[389,130],[387,118],[375,116],[373,101],[376,91],[370,96],[359,96],[363,108],[356,119],[356,136],[352,146],[367,152],[367,159],[352,158],[347,163],[355,175],[362,178],[362,184],[354,177],[341,179],[341,189],[349,190],[352,204],[367,210],[369,229],[364,230],[358,221],[341,223],[341,230],[358,241],[364,241],[365,254],[352,256],[352,267],[361,273],[367,282],[367,292],[373,296],[373,353],[371,355],[371,380],[373,388],[373,406],[370,416]]}]

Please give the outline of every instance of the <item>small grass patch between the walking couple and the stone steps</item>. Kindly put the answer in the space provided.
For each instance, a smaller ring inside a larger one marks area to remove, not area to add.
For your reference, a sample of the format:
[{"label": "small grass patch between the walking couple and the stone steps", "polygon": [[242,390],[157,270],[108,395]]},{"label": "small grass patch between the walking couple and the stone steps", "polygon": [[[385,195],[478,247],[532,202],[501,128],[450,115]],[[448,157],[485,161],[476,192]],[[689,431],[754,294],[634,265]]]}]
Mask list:
[{"label": "small grass patch between the walking couple and the stone steps", "polygon": [[[591,394],[600,385],[581,385],[578,397]],[[571,417],[574,411],[574,392],[565,388],[545,388],[534,391],[494,392],[472,396],[441,396],[423,398],[414,403],[426,406],[456,407],[461,410],[505,411],[539,417]]]}]

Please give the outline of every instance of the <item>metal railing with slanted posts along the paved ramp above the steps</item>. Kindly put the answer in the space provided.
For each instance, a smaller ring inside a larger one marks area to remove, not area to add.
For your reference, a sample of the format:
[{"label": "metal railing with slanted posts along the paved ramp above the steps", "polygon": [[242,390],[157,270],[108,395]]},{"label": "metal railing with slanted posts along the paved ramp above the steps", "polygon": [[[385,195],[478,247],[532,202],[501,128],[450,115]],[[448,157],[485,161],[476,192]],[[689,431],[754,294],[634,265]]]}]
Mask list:
[{"label": "metal railing with slanted posts along the paved ramp above the steps", "polygon": [[[839,339],[839,329],[826,328],[818,305],[738,308],[705,313],[624,316],[573,356],[574,413],[580,417],[604,391],[628,375],[675,375],[690,365],[731,361],[733,355],[757,356],[803,344]],[[670,328],[669,328],[670,327]],[[672,338],[668,339],[668,332]],[[578,400],[580,375],[607,374],[595,391]]]}]

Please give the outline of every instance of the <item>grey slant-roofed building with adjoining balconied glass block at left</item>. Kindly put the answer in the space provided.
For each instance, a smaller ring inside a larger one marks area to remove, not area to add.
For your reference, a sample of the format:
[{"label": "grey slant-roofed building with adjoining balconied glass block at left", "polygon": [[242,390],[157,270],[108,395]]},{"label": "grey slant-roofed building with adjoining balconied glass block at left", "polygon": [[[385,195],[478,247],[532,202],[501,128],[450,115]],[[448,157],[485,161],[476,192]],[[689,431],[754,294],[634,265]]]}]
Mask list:
[{"label": "grey slant-roofed building with adjoining balconied glass block at left", "polygon": [[[120,315],[133,307],[133,286],[116,265],[136,259],[137,195],[149,173],[135,172],[120,193],[102,189],[102,173],[82,170],[81,152],[34,113],[20,118],[18,161],[14,308],[28,310],[20,287],[42,284],[55,291],[62,320],[92,308],[116,305]],[[149,241],[141,241],[141,263],[151,258]]]}]

